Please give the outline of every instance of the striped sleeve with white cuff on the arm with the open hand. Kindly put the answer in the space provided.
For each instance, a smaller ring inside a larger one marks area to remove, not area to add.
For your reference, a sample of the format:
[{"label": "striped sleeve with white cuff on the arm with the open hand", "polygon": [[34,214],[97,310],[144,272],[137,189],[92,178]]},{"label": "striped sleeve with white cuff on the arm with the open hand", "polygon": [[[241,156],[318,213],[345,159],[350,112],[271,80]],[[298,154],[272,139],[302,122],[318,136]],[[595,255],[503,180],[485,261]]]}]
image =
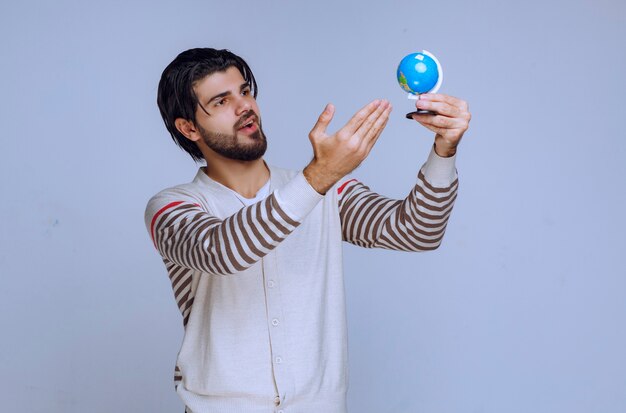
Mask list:
[{"label": "striped sleeve with white cuff on the arm with the open hand", "polygon": [[190,197],[157,195],[146,226],[161,256],[179,266],[233,274],[253,265],[283,241],[322,196],[300,173],[266,199],[218,219]]}]

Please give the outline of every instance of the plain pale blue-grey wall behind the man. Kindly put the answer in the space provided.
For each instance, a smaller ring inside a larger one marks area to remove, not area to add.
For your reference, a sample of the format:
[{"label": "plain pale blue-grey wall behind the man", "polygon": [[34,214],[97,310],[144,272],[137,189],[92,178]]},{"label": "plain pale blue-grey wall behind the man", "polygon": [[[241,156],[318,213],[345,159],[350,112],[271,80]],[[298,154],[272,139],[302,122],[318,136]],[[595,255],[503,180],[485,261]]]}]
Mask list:
[{"label": "plain pale blue-grey wall behind the man", "polygon": [[182,411],[143,210],[195,173],[155,95],[200,46],[251,64],[281,166],[327,102],[335,130],[390,99],[355,175],[391,197],[432,143],[400,59],[470,103],[443,246],[345,248],[351,412],[626,411],[623,1],[3,2],[0,34],[2,411]]}]

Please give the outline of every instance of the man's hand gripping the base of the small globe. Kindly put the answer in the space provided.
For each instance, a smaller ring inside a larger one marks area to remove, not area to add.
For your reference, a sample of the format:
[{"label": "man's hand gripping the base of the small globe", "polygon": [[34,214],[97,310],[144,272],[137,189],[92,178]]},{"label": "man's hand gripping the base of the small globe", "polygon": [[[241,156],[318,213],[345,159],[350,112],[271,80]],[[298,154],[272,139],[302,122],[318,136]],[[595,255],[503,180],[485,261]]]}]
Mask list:
[{"label": "man's hand gripping the base of the small globe", "polygon": [[413,114],[413,119],[436,133],[437,155],[453,156],[472,118],[467,102],[440,93],[424,93],[415,102],[415,107],[436,112],[434,115]]}]

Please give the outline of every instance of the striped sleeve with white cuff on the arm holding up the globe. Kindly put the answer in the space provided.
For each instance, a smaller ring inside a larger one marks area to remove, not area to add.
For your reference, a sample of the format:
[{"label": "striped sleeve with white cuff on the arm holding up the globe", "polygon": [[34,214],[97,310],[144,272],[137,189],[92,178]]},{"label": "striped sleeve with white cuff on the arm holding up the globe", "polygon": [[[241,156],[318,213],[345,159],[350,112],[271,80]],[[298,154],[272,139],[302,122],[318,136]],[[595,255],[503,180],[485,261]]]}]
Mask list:
[{"label": "striped sleeve with white cuff on the arm holding up the globe", "polygon": [[343,239],[367,248],[434,250],[441,244],[457,188],[454,159],[434,151],[404,200],[383,197],[348,180],[338,187]]}]

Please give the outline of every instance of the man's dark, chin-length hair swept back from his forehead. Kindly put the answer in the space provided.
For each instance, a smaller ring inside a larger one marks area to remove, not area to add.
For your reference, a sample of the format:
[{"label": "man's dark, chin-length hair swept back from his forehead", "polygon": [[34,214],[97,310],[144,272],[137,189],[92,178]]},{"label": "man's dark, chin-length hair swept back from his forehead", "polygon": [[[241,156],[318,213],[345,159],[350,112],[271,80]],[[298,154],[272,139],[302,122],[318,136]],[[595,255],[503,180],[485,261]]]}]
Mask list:
[{"label": "man's dark, chin-length hair swept back from his forehead", "polygon": [[196,122],[196,106],[198,97],[193,86],[215,72],[224,72],[229,67],[236,67],[243,79],[250,85],[252,95],[256,98],[257,86],[252,70],[248,64],[229,50],[211,48],[189,49],[172,61],[161,75],[157,91],[157,105],[165,122],[165,127],[172,135],[174,142],[187,152],[195,161],[204,159],[195,142],[190,141],[176,129],[174,122],[183,118]]}]

